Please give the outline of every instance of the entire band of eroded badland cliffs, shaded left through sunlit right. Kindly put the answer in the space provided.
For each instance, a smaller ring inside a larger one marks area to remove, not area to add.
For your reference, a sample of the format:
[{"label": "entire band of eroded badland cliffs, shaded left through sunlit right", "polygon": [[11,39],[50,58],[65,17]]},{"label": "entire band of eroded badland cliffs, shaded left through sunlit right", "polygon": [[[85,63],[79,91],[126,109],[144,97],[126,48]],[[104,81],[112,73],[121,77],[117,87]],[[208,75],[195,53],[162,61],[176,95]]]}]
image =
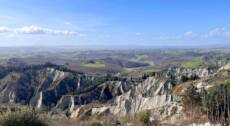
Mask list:
[{"label": "entire band of eroded badland cliffs, shaded left through sunlit right", "polygon": [[175,121],[178,119],[175,113],[180,113],[182,106],[178,102],[180,97],[173,92],[174,87],[199,80],[194,85],[206,88],[209,85],[200,78],[211,77],[216,71],[170,67],[135,81],[90,76],[53,65],[12,68],[1,75],[0,103],[68,111],[72,118],[82,112],[91,115],[110,112],[124,116],[149,110],[161,119],[170,116]]}]

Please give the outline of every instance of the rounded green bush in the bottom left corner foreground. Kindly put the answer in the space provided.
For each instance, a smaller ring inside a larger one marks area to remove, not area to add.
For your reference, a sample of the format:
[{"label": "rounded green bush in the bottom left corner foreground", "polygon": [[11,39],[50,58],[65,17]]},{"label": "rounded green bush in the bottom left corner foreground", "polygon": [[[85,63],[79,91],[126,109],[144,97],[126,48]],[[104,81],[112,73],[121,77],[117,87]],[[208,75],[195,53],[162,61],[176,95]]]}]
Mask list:
[{"label": "rounded green bush in the bottom left corner foreground", "polygon": [[51,120],[33,109],[21,108],[3,113],[0,116],[0,126],[51,126]]}]

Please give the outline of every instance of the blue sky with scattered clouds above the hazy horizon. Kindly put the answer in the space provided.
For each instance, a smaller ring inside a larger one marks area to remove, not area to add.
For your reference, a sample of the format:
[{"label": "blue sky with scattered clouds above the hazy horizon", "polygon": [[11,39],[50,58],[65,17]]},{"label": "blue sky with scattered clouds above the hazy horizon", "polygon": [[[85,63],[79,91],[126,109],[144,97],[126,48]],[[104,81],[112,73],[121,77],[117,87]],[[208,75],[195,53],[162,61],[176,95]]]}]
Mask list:
[{"label": "blue sky with scattered clouds above the hazy horizon", "polygon": [[0,46],[230,45],[229,0],[0,0]]}]

